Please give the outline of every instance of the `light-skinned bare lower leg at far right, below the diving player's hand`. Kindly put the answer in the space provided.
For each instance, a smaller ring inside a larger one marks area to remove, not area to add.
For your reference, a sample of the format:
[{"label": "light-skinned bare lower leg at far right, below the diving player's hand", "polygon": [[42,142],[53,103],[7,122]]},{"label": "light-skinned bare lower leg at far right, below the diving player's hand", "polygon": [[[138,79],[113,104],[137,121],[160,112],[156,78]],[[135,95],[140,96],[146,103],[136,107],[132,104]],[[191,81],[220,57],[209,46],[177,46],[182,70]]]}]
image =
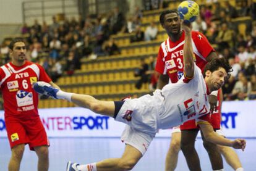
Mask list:
[{"label": "light-skinned bare lower leg at far right, below the diving player's hand", "polygon": [[218,146],[218,149],[220,150],[221,154],[226,159],[226,162],[234,169],[238,169],[239,167],[242,167],[242,164],[239,160],[239,157],[237,156],[234,149],[229,148],[227,146]]}]

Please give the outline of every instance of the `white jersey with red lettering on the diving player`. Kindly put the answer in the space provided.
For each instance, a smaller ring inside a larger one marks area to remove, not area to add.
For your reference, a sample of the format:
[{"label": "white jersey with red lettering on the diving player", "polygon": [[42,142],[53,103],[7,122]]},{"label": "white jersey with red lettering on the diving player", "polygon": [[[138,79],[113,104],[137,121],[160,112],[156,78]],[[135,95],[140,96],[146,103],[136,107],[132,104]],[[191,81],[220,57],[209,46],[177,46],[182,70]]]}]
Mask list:
[{"label": "white jersey with red lettering on the diving player", "polygon": [[194,78],[184,76],[173,85],[164,86],[164,111],[158,117],[158,128],[165,129],[181,125],[187,120],[199,118],[210,112],[208,88],[201,69],[195,65]]}]

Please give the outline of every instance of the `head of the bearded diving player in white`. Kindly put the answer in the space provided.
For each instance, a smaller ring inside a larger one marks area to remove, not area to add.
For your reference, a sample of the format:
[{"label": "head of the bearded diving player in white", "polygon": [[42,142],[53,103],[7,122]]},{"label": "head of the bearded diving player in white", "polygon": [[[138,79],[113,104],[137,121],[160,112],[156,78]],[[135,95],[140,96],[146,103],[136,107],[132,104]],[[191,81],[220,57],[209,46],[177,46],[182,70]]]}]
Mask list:
[{"label": "head of the bearded diving player in white", "polygon": [[210,91],[220,89],[221,86],[228,81],[228,78],[230,77],[229,73],[232,71],[232,67],[229,65],[228,60],[224,58],[217,58],[208,62],[208,64],[205,65],[203,77],[205,77],[205,82]]}]

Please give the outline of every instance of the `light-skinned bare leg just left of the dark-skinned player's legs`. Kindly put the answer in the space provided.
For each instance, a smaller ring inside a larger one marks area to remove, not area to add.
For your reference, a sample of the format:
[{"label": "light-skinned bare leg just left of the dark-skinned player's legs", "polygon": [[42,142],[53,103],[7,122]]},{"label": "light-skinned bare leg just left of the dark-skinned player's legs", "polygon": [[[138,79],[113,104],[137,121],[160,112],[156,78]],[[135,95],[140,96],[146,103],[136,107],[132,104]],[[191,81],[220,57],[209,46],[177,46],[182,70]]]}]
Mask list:
[{"label": "light-skinned bare leg just left of the dark-skinned player's legs", "polygon": [[171,143],[165,159],[165,171],[173,171],[177,167],[177,159],[181,150],[181,132],[171,135]]}]

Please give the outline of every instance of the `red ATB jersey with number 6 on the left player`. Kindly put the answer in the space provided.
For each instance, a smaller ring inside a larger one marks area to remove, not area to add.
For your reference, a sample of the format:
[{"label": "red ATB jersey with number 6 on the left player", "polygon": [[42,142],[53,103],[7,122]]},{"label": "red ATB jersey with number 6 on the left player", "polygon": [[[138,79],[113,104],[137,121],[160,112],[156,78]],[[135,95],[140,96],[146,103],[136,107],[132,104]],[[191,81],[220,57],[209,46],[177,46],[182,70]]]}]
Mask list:
[{"label": "red ATB jersey with number 6 on the left player", "polygon": [[38,94],[32,85],[36,81],[51,81],[41,65],[26,61],[17,67],[9,62],[0,67],[0,81],[5,119],[38,117]]}]

